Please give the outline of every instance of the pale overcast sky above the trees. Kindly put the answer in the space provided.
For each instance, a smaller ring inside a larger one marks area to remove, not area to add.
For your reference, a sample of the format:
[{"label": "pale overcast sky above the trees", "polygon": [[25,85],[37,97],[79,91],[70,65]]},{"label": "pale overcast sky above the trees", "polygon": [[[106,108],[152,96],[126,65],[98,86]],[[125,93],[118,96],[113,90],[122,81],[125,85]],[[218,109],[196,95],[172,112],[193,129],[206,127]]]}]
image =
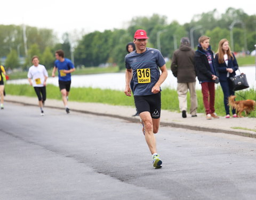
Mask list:
[{"label": "pale overcast sky above the trees", "polygon": [[243,9],[255,14],[255,1],[194,0],[194,1],[122,1],[122,0],[2,0],[0,24],[50,28],[59,35],[65,31],[89,33],[113,28],[125,28],[133,17],[150,17],[157,13],[166,15],[168,22],[177,20],[183,24],[193,15],[217,9],[221,14],[228,7]]}]

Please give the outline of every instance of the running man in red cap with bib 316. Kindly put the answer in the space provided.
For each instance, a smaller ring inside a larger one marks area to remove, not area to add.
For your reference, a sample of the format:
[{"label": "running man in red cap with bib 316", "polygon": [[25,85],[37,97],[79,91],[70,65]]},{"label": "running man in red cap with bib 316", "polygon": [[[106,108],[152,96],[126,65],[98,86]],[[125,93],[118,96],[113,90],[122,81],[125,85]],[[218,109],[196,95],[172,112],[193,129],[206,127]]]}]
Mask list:
[{"label": "running man in red cap with bib 316", "polygon": [[[158,132],[161,115],[161,85],[167,77],[165,60],[157,49],[146,47],[148,42],[145,30],[137,30],[133,43],[136,51],[125,56],[125,90],[131,97],[130,82],[133,78],[133,95],[139,112],[142,131],[153,156],[153,166],[160,168],[162,161],[156,150],[154,133]],[[160,75],[160,70],[162,74]]]}]

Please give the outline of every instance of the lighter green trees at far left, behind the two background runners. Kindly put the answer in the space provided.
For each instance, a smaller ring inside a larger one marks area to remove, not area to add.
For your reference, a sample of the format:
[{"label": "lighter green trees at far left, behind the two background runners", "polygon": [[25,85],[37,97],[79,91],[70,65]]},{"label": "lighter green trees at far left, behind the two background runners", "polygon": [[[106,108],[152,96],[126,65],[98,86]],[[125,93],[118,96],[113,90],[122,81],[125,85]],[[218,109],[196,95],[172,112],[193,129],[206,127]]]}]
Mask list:
[{"label": "lighter green trees at far left, behind the two background runners", "polygon": [[[70,57],[68,34],[62,36],[62,42],[60,43],[51,29],[0,25],[0,46],[1,57],[6,58],[5,66],[12,69],[19,67],[26,69],[31,66],[30,59],[33,55],[38,55],[41,63],[47,68],[51,68],[55,60],[54,51],[57,49],[65,50],[67,57]],[[25,58],[23,63],[21,63],[21,58]]]}]

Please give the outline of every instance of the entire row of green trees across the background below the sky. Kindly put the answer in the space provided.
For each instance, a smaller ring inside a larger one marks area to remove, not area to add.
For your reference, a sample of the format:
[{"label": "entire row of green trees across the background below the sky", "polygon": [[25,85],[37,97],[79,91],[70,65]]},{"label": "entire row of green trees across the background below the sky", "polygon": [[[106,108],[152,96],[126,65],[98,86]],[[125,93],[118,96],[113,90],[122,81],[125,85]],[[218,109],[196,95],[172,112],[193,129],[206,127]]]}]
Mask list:
[{"label": "entire row of green trees across the background below the sky", "polygon": [[[230,38],[230,25],[233,30],[233,37]],[[75,65],[99,66],[101,63],[117,63],[120,68],[124,68],[125,46],[132,42],[133,34],[137,29],[147,30],[149,36],[149,47],[161,49],[164,57],[172,57],[181,37],[189,37],[194,47],[197,45],[198,37],[207,35],[211,37],[213,51],[217,51],[218,42],[222,38],[229,41],[233,39],[233,51],[252,51],[256,42],[256,15],[247,15],[241,9],[229,8],[225,13],[219,14],[217,10],[195,15],[194,18],[184,25],[177,21],[167,22],[165,16],[153,14],[151,17],[133,18],[126,29],[105,30],[103,32],[80,36],[64,34],[62,42],[59,43],[57,37],[50,29],[37,29],[35,27],[26,28],[28,59],[25,67],[29,66],[29,59],[32,55],[40,55],[41,63],[47,68],[53,66],[54,51],[63,49],[66,57],[70,58],[71,50],[74,51]],[[19,55],[25,56],[25,46],[23,45],[22,26],[0,26],[0,55],[7,56],[6,62],[11,65],[15,57],[15,50]],[[20,49],[20,50],[19,50]],[[10,58],[12,55],[12,59]]]}]

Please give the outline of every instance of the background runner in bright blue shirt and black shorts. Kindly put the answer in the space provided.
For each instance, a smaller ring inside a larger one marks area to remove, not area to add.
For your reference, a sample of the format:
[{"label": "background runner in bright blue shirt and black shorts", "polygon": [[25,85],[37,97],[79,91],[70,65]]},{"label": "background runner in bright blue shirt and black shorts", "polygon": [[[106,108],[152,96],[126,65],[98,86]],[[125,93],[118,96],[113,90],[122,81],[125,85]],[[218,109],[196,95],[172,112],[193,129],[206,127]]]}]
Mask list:
[{"label": "background runner in bright blue shirt and black shorts", "polygon": [[64,52],[58,50],[55,52],[55,64],[52,71],[52,77],[55,77],[55,72],[58,69],[59,73],[59,87],[62,95],[62,101],[64,103],[67,114],[69,114],[68,108],[68,94],[71,85],[71,73],[75,71],[75,67],[71,60],[64,58]]}]

